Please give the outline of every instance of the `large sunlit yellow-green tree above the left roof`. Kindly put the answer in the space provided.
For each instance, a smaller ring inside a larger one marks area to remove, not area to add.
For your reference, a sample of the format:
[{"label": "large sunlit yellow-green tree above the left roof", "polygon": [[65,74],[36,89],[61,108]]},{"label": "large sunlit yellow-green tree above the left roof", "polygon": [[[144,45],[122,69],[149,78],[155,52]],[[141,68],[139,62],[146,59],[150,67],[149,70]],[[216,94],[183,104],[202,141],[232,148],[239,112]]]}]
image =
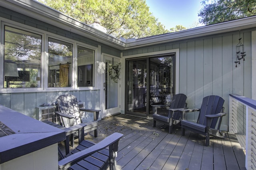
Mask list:
[{"label": "large sunlit yellow-green tree above the left roof", "polygon": [[149,12],[145,0],[39,0],[85,24],[95,18],[116,38],[141,38],[168,30]]}]

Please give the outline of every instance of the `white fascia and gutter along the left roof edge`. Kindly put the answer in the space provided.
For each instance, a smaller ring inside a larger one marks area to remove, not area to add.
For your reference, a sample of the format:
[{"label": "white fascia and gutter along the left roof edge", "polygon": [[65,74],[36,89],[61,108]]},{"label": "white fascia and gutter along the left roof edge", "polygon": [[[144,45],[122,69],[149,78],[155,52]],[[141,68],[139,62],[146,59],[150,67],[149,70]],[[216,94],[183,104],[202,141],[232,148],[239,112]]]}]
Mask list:
[{"label": "white fascia and gutter along the left roof edge", "polygon": [[126,44],[34,0],[0,0],[0,6],[120,50]]}]

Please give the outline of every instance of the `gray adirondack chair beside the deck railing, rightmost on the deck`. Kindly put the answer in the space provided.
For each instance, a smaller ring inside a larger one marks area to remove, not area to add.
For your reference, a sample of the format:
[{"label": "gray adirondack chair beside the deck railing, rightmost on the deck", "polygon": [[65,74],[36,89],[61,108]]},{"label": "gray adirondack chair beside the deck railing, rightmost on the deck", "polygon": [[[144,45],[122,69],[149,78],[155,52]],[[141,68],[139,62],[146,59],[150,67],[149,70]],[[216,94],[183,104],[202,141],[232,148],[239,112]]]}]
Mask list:
[{"label": "gray adirondack chair beside the deck railing, rightmost on the deck", "polygon": [[[199,111],[196,123],[184,119],[181,121],[182,135],[185,135],[185,129],[202,134],[206,136],[206,146],[209,146],[210,144],[210,135],[224,138],[225,135],[220,130],[222,117],[226,115],[226,113],[222,113],[224,111],[223,104],[224,99],[222,99],[222,97],[210,95],[204,97],[200,109],[180,110],[182,111],[182,115],[189,112]],[[217,122],[218,125],[216,126]]]}]

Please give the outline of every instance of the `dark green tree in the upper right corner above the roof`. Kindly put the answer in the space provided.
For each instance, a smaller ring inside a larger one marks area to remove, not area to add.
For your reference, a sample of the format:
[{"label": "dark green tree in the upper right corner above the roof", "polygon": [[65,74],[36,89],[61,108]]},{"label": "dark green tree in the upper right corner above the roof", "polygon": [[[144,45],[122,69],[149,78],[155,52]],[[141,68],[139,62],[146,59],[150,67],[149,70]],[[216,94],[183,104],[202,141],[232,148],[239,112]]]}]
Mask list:
[{"label": "dark green tree in the upper right corner above the roof", "polygon": [[256,15],[255,0],[203,0],[202,5],[199,22],[206,25]]}]

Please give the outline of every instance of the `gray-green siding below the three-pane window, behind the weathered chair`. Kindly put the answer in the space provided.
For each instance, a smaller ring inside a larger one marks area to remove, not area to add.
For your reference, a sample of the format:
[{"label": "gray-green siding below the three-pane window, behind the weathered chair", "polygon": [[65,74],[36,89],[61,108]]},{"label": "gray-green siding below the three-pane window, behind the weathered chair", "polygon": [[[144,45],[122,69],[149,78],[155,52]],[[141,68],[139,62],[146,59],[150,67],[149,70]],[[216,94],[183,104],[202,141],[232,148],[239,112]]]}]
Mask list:
[{"label": "gray-green siding below the three-pane window, behind the weathered chair", "polygon": [[[62,94],[76,96],[78,101],[85,102],[85,108],[101,110],[100,90],[0,93],[0,105],[36,119],[36,107],[44,103],[51,105]],[[93,114],[89,113],[87,119],[93,121]]]}]

